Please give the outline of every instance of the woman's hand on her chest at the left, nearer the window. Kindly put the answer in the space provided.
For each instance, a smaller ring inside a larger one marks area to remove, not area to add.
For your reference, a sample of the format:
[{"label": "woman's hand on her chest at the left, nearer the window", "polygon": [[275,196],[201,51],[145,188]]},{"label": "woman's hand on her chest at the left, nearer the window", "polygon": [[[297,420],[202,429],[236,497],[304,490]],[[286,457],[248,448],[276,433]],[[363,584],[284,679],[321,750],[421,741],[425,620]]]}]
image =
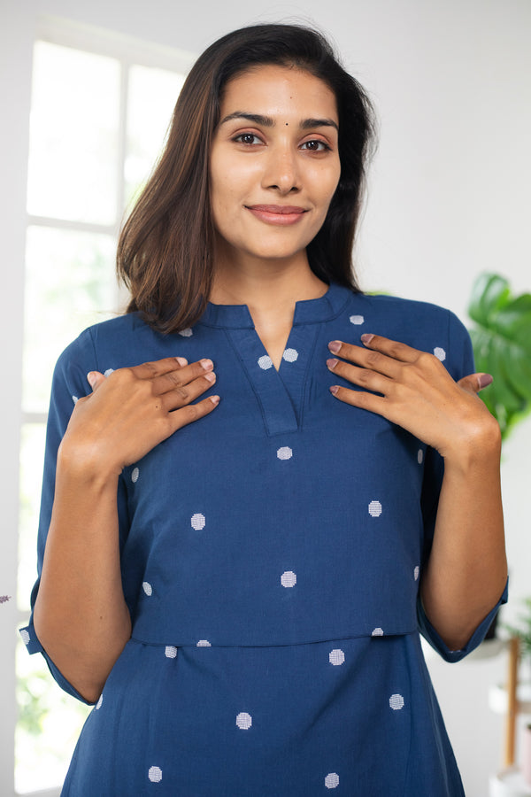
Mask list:
[{"label": "woman's hand on her chest at the left, nearer the window", "polygon": [[92,393],[79,399],[61,443],[61,459],[85,472],[119,476],[173,432],[203,418],[219,396],[191,404],[216,381],[212,360],[181,357],[87,376]]}]

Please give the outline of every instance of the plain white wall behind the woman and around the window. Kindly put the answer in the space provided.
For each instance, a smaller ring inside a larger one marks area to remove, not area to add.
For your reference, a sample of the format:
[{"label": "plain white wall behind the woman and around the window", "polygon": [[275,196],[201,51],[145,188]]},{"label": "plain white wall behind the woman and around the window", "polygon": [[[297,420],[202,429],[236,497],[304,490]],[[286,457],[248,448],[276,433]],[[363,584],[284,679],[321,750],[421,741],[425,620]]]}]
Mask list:
[{"label": "plain white wall behind the woman and around the window", "polygon": [[[31,44],[39,15],[199,52],[227,30],[252,21],[313,21],[332,35],[345,62],[372,93],[381,146],[358,255],[363,286],[449,306],[466,321],[466,299],[481,270],[531,290],[531,4],[528,0],[302,0],[266,12],[241,0],[0,0],[0,191],[4,273],[2,406],[3,507],[0,593],[14,594],[22,221],[26,184]],[[6,277],[8,282],[6,282]],[[9,291],[5,286],[9,284]],[[531,422],[504,453],[504,499],[512,605],[531,593],[528,451]],[[4,610],[5,609],[5,610]],[[0,607],[2,654],[12,655],[14,607]],[[456,666],[430,662],[467,797],[487,793],[501,755],[501,721],[487,687],[503,677],[504,657]],[[0,772],[12,741],[0,744]],[[478,744],[478,740],[481,743]],[[4,781],[5,782],[5,781]]]}]

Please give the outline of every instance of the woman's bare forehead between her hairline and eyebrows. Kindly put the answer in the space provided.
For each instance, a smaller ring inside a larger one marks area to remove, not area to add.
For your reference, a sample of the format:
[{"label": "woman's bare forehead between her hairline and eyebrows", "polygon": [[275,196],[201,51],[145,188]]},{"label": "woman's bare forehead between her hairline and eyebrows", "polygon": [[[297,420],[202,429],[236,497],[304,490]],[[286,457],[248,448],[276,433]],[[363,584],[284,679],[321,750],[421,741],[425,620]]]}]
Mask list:
[{"label": "woman's bare forehead between her hairline and eyebrows", "polygon": [[[260,65],[227,82],[220,103],[221,116],[256,111],[327,116],[338,120],[335,94],[325,81],[297,66]],[[302,118],[302,117],[301,117]]]}]

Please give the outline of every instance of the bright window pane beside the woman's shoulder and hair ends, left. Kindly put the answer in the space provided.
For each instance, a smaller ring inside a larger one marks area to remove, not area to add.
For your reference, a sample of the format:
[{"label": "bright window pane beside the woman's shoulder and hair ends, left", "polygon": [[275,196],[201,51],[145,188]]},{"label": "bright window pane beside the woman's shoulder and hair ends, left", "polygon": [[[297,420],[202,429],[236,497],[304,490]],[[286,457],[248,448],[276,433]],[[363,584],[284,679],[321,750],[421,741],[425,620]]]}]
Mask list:
[{"label": "bright window pane beside the woman's shoulder and hair ends, left", "polygon": [[46,412],[58,355],[90,324],[112,315],[116,298],[112,236],[27,230],[23,407]]}]

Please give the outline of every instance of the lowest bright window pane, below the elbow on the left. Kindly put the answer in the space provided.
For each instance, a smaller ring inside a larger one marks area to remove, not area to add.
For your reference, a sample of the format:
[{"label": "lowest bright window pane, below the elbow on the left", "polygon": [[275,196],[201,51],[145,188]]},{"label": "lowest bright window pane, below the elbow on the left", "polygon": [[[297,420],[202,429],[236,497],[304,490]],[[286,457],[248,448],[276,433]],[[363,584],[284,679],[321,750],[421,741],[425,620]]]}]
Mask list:
[{"label": "lowest bright window pane, below the elbow on the left", "polygon": [[15,788],[18,793],[63,783],[89,706],[62,692],[41,655],[17,646]]}]

